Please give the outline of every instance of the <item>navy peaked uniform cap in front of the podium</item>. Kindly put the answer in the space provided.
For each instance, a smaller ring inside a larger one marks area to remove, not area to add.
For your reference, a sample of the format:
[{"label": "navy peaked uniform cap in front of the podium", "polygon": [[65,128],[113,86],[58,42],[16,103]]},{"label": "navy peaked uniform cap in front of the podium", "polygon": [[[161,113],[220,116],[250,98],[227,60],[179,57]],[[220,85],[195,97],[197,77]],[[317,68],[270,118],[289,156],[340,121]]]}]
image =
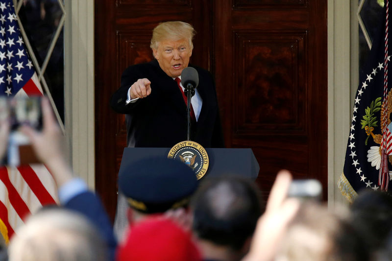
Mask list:
[{"label": "navy peaked uniform cap in front of the podium", "polygon": [[119,173],[119,190],[133,209],[162,213],[186,206],[197,188],[195,172],[184,163],[164,157],[129,164]]}]

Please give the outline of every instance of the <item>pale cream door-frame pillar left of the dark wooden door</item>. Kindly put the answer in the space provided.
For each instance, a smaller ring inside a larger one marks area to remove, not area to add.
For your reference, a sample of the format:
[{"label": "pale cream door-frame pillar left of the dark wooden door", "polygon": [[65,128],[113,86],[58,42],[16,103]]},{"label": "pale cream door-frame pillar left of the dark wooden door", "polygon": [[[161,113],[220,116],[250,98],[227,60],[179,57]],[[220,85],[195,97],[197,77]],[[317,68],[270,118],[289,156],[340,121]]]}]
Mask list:
[{"label": "pale cream door-frame pillar left of the dark wooden door", "polygon": [[95,186],[94,0],[66,0],[65,126],[74,172]]}]

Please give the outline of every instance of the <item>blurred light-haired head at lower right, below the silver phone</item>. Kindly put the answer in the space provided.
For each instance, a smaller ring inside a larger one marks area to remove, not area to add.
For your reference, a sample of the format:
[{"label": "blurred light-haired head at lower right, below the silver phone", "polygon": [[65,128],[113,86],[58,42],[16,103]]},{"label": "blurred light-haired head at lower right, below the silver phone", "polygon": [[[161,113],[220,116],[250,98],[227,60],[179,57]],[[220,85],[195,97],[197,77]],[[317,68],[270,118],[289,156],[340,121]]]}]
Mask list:
[{"label": "blurred light-haired head at lower right, below the silver phone", "polygon": [[368,250],[349,222],[349,212],[304,201],[288,225],[276,261],[368,261]]}]

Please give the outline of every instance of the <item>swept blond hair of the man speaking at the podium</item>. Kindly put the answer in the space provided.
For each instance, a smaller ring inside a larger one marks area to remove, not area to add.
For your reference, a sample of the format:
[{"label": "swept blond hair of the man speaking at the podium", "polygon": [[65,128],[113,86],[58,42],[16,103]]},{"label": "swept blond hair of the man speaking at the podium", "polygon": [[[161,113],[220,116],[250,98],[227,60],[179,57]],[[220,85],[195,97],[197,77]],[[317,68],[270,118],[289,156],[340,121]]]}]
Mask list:
[{"label": "swept blond hair of the man speaking at the podium", "polygon": [[150,47],[151,49],[157,49],[159,42],[163,40],[178,41],[185,38],[189,40],[189,46],[193,49],[192,39],[195,34],[196,31],[193,26],[185,22],[173,21],[160,23],[152,30]]}]

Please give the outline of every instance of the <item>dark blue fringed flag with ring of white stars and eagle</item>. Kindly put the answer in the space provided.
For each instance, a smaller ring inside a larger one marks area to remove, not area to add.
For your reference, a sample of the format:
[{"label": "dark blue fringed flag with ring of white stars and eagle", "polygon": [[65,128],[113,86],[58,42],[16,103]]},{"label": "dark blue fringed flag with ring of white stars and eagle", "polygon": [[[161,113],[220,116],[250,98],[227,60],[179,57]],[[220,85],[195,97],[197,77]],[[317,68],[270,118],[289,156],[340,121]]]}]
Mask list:
[{"label": "dark blue fringed flag with ring of white stars and eagle", "polygon": [[392,92],[388,88],[388,65],[391,51],[388,34],[391,17],[385,1],[385,19],[380,24],[378,39],[373,41],[369,58],[360,71],[360,84],[355,96],[350,134],[339,188],[349,201],[359,190],[388,190],[392,170]]}]

